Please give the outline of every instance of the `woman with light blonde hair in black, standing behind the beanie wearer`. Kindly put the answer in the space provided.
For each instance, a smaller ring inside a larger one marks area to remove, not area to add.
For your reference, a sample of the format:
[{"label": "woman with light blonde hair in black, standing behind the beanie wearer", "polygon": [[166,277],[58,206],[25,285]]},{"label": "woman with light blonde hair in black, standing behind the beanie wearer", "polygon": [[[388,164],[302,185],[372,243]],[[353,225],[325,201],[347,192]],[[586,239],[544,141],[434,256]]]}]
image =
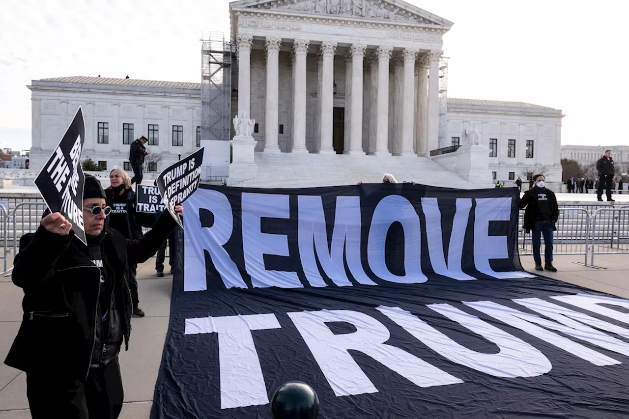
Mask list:
[{"label": "woman with light blonde hair in black, standing behind the beanie wearer", "polygon": [[[107,218],[107,225],[122,233],[125,238],[137,240],[142,237],[142,228],[136,223],[135,192],[131,189],[131,179],[125,170],[114,167],[109,172],[111,186],[105,189],[106,204],[111,207],[111,213]],[[136,280],[138,265],[129,264],[128,281],[133,301],[133,315],[144,317],[144,311],[138,306],[138,281]]]}]

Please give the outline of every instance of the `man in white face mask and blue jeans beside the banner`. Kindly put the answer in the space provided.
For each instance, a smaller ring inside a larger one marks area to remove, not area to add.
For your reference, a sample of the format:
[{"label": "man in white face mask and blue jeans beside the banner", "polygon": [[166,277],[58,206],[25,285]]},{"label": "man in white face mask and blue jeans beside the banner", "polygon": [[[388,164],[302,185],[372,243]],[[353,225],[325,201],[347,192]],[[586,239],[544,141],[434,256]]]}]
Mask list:
[{"label": "man in white face mask and blue jeans beside the banner", "polygon": [[[552,242],[553,232],[557,230],[555,223],[559,219],[559,205],[555,194],[544,185],[546,178],[542,174],[533,176],[535,187],[524,193],[520,200],[520,208],[524,211],[523,228],[528,233],[533,231],[533,259],[535,259],[535,269],[550,272],[557,272],[552,264]],[[542,267],[542,236],[544,237],[544,267]]]}]

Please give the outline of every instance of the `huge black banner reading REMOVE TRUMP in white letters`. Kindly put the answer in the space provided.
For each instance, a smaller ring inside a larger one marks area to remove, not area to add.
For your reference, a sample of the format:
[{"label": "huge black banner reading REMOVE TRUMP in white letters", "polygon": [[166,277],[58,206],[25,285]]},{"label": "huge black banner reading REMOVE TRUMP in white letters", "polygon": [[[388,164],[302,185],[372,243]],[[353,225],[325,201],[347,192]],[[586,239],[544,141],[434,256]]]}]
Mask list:
[{"label": "huge black banner reading REMOVE TRUMP in white letters", "polygon": [[628,417],[629,301],[523,272],[518,203],[202,187],[151,417],[270,418],[294,380],[328,419]]}]

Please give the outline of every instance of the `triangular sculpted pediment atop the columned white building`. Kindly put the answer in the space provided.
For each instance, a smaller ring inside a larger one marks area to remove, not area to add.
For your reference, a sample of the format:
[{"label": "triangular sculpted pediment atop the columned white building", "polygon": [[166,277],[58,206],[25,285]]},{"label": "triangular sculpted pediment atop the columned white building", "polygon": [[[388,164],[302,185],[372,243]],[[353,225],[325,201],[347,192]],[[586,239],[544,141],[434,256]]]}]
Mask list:
[{"label": "triangular sculpted pediment atop the columned white building", "polygon": [[452,22],[401,0],[240,0],[231,9],[246,8],[343,18],[438,25],[449,29]]}]

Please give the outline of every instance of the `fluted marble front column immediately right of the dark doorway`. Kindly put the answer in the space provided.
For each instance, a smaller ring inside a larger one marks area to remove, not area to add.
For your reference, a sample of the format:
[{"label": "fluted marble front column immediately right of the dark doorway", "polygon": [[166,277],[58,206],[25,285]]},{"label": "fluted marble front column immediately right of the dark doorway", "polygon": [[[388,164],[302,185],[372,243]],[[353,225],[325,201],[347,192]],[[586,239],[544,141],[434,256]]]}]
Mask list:
[{"label": "fluted marble front column immediately right of the dark doorway", "polygon": [[362,105],[363,105],[363,58],[367,45],[353,44],[352,54],[352,108],[350,125],[350,148],[347,154],[364,154],[362,150]]}]

